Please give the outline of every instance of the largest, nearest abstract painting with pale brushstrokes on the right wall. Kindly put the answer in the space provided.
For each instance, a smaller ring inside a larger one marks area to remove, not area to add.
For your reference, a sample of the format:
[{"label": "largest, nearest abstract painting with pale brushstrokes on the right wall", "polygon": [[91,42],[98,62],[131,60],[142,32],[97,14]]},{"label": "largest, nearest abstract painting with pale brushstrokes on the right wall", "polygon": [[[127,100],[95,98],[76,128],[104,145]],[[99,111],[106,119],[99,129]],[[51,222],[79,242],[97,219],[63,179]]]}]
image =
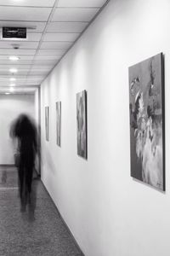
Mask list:
[{"label": "largest, nearest abstract painting with pale brushstrokes on the right wall", "polygon": [[129,67],[131,176],[165,190],[162,54]]}]

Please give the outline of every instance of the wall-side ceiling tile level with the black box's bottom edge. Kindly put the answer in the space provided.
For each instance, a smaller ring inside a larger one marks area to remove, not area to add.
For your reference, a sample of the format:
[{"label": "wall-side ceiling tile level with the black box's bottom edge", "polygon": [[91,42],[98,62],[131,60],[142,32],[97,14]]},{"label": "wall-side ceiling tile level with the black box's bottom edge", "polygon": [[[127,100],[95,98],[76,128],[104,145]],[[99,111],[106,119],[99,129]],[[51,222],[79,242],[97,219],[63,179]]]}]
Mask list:
[{"label": "wall-side ceiling tile level with the black box's bottom edge", "polygon": [[43,41],[69,41],[74,42],[79,33],[46,33]]}]

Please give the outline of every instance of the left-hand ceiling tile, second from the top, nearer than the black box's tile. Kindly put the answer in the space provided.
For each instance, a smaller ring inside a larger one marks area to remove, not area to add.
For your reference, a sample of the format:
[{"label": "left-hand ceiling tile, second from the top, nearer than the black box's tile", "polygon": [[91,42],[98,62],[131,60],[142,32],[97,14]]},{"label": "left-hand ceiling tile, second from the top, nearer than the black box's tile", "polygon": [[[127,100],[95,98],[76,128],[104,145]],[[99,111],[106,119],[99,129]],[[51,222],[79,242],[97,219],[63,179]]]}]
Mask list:
[{"label": "left-hand ceiling tile, second from the top, nearer than the black box's tile", "polygon": [[1,6],[1,20],[46,21],[51,8]]}]

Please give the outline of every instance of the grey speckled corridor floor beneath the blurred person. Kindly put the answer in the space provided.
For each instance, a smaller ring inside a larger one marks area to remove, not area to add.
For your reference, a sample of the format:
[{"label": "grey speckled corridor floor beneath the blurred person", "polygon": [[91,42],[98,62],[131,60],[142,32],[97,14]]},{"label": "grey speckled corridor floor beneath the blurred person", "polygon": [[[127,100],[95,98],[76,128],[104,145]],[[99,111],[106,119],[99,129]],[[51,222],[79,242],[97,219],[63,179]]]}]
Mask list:
[{"label": "grey speckled corridor floor beneath the blurred person", "polygon": [[35,212],[20,211],[17,172],[0,170],[0,255],[83,255],[65,227],[42,182],[33,180]]}]

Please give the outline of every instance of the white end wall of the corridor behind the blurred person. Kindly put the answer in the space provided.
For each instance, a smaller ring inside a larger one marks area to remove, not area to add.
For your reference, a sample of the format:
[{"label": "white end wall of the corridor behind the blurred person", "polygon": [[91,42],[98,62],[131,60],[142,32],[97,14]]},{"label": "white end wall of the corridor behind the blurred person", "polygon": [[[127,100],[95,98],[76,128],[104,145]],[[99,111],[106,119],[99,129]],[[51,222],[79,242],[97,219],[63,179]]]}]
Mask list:
[{"label": "white end wall of the corridor behind the blurred person", "polygon": [[11,122],[20,113],[28,113],[35,119],[35,96],[0,95],[0,165],[14,165],[15,144],[9,137]]}]

